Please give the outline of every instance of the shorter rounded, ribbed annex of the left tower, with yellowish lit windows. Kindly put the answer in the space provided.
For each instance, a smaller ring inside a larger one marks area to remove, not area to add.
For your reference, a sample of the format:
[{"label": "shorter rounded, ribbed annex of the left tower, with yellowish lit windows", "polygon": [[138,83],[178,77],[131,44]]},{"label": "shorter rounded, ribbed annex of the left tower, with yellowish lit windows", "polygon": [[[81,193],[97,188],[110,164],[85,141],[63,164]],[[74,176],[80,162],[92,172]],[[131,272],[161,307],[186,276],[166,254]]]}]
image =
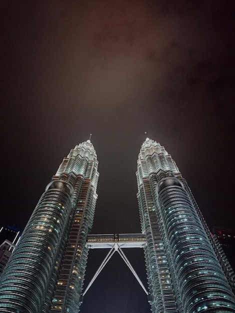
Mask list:
[{"label": "shorter rounded, ribbed annex of the left tower, with yellowish lit windows", "polygon": [[72,186],[53,181],[37,203],[0,280],[0,311],[42,309],[71,212]]}]

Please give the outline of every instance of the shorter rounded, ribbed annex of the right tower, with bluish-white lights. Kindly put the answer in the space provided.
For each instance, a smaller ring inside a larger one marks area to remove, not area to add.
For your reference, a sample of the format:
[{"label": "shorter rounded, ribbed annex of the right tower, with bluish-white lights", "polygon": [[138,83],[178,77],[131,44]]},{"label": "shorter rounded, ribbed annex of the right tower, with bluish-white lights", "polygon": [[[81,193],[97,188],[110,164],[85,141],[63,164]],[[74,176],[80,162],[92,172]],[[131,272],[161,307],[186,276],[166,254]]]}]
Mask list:
[{"label": "shorter rounded, ribbed annex of the right tower, with bluish-white lights", "polygon": [[182,182],[164,178],[157,193],[184,311],[234,312],[234,296]]}]

